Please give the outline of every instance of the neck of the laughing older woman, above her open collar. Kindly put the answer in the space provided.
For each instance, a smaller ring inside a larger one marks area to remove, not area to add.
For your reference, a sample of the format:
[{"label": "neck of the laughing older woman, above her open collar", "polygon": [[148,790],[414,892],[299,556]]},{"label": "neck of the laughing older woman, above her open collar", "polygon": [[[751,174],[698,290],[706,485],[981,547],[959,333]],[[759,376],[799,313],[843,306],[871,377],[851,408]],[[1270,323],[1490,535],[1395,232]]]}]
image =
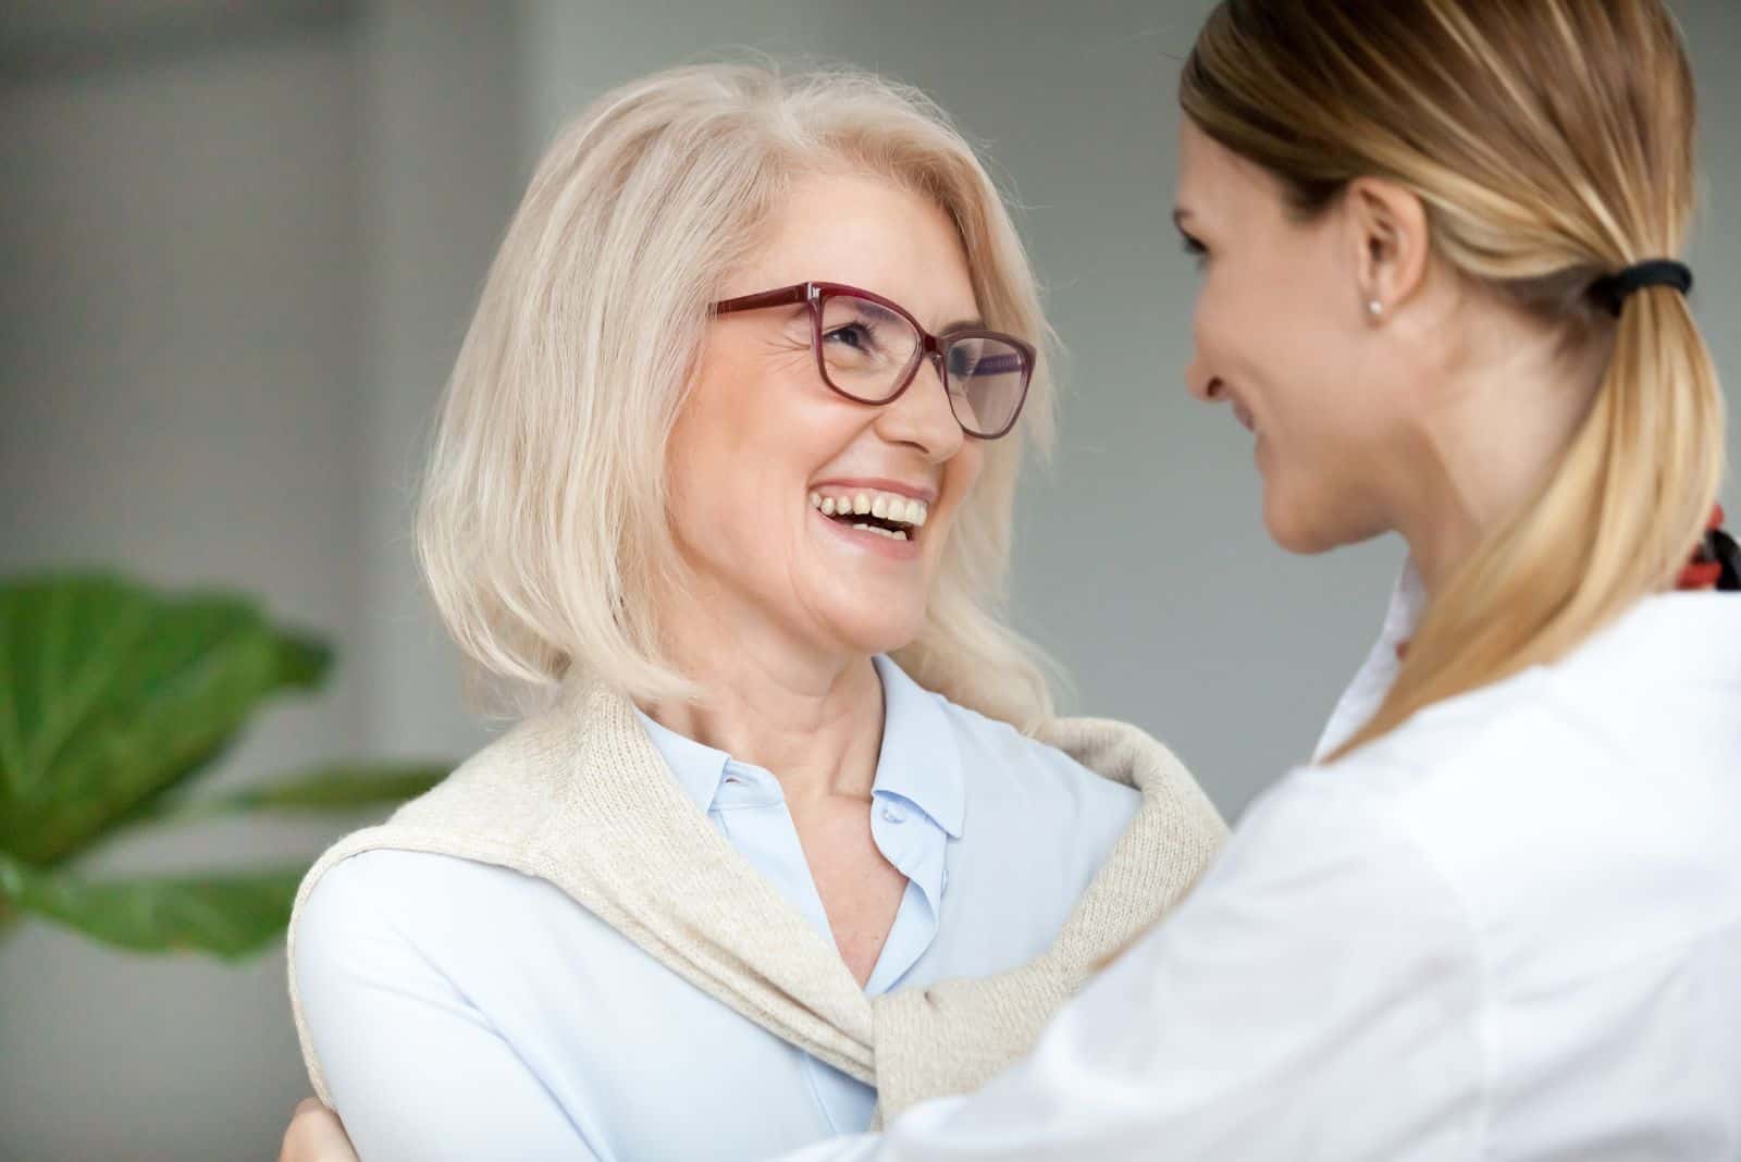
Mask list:
[{"label": "neck of the laughing older woman, above her open collar", "polygon": [[702,698],[642,705],[646,715],[770,771],[789,804],[869,800],[883,746],[883,685],[870,659],[806,649],[757,611],[716,597],[682,598],[667,626],[672,661]]}]

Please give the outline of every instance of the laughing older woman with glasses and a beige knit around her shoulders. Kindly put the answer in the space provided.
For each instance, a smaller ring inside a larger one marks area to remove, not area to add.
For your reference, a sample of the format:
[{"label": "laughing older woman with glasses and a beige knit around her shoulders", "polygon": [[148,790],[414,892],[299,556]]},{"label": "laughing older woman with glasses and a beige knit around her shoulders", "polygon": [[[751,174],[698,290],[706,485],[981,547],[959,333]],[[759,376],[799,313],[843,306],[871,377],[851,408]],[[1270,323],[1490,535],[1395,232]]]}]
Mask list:
[{"label": "laughing older woman with glasses and a beige knit around her shoulders", "polygon": [[679,70],[555,143],[418,538],[531,705],[292,922],[362,1157],[862,1131],[1013,1059],[1191,884],[1213,809],[1055,720],[998,618],[1045,337],[984,169],[881,80]]}]

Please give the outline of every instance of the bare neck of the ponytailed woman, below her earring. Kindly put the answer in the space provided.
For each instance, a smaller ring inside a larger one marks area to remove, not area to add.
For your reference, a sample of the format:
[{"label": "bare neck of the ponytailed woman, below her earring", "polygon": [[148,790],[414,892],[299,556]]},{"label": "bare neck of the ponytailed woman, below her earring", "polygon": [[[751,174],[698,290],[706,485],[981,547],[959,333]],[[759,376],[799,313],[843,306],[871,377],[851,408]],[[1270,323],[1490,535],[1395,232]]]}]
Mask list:
[{"label": "bare neck of the ponytailed woman, below her earring", "polygon": [[1440,405],[1396,449],[1396,529],[1438,593],[1543,489],[1590,411],[1607,351],[1567,355],[1555,334],[1496,325],[1445,376]]}]

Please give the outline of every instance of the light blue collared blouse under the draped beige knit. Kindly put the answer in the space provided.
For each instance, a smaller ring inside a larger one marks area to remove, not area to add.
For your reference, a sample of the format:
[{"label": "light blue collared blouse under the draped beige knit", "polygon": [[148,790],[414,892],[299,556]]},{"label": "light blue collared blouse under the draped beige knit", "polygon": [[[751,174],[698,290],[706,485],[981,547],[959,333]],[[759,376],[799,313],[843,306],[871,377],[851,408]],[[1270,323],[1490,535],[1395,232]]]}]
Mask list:
[{"label": "light blue collared blouse under the draped beige knit", "polygon": [[[1137,807],[886,658],[870,831],[907,877],[872,995],[1045,950]],[[642,727],[695,805],[817,929],[778,779]],[[315,1051],[364,1162],[763,1159],[869,1127],[876,1094],[691,988],[557,887],[369,851],[298,920]]]}]

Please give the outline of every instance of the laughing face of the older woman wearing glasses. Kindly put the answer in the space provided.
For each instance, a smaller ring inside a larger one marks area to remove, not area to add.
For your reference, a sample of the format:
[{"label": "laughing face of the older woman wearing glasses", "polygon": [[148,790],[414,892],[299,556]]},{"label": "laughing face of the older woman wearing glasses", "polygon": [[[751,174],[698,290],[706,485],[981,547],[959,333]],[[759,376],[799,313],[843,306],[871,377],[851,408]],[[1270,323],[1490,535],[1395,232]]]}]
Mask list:
[{"label": "laughing face of the older woman wearing glasses", "polygon": [[[933,332],[978,313],[949,217],[877,177],[796,183],[719,297],[810,280],[890,297]],[[872,407],[823,384],[806,308],[723,315],[672,433],[672,531],[709,618],[782,649],[886,652],[924,624],[982,456],[930,362]],[[837,520],[860,498],[864,520]]]}]

